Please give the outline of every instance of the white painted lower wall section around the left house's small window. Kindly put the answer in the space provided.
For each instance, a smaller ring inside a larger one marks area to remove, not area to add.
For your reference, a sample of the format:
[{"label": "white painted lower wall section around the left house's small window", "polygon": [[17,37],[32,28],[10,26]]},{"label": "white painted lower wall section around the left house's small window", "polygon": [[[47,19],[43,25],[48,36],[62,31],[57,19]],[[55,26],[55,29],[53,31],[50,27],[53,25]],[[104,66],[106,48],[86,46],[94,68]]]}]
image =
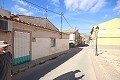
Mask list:
[{"label": "white painted lower wall section around the left house's small window", "polygon": [[50,38],[36,38],[36,42],[32,42],[32,60],[69,49],[68,39],[56,39],[55,47],[51,47],[50,43]]}]

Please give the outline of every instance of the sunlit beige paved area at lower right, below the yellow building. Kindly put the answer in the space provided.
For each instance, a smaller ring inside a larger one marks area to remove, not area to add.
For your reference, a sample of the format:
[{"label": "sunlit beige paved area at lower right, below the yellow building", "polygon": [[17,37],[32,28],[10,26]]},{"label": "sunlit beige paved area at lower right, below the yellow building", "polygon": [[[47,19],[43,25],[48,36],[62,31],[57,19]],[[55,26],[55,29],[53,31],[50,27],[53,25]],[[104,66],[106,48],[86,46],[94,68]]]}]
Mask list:
[{"label": "sunlit beige paved area at lower right, below the yellow building", "polygon": [[120,50],[102,49],[96,60],[104,68],[109,80],[120,80]]}]

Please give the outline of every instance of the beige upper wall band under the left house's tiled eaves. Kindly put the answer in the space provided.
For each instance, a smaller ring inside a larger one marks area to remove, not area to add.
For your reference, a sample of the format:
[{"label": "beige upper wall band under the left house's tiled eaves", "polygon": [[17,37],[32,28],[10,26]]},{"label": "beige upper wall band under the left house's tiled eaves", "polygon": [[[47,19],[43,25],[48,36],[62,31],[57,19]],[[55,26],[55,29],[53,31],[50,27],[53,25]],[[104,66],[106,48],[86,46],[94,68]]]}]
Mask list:
[{"label": "beige upper wall band under the left house's tiled eaves", "polygon": [[[60,32],[36,28],[35,26],[28,26],[21,23],[13,23],[13,27],[19,30],[27,30],[32,32],[32,38],[57,38],[60,39]],[[68,39],[68,34],[62,34],[63,39]]]}]

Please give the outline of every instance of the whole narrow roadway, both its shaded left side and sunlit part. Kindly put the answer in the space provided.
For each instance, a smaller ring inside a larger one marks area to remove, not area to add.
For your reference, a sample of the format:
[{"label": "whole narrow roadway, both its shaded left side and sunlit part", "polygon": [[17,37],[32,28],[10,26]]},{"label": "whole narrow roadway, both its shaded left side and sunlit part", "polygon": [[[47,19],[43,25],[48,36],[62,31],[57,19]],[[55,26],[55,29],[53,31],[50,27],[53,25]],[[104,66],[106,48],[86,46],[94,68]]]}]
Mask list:
[{"label": "whole narrow roadway, both its shaded left side and sunlit part", "polygon": [[87,47],[75,48],[54,60],[21,72],[12,80],[96,80]]}]

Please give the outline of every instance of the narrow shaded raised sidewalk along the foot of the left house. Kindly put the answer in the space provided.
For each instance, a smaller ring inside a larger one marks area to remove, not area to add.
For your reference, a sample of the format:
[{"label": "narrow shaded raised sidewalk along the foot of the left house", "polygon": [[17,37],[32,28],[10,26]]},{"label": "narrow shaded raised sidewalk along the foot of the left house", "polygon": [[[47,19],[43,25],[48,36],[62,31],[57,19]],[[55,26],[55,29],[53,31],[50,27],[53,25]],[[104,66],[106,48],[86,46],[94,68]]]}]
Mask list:
[{"label": "narrow shaded raised sidewalk along the foot of the left house", "polygon": [[[37,65],[41,65],[41,64],[43,64],[43,63],[45,63],[47,61],[54,60],[54,59],[56,59],[56,58],[58,58],[58,57],[60,57],[60,56],[62,56],[64,54],[67,54],[71,50],[72,49],[69,49],[69,50],[62,51],[62,52],[59,52],[59,53],[56,53],[56,54],[53,54],[53,55],[50,55],[50,56],[46,56],[46,57],[43,57],[43,58],[39,58],[39,59],[30,61],[30,62],[21,64],[24,67],[21,67],[21,65],[15,66],[15,67],[13,67],[12,75],[16,75],[16,74],[18,74],[20,72],[25,72],[26,70],[28,70],[30,68],[33,68],[33,67],[35,67]],[[18,69],[15,69],[15,68],[18,68]]]}]

